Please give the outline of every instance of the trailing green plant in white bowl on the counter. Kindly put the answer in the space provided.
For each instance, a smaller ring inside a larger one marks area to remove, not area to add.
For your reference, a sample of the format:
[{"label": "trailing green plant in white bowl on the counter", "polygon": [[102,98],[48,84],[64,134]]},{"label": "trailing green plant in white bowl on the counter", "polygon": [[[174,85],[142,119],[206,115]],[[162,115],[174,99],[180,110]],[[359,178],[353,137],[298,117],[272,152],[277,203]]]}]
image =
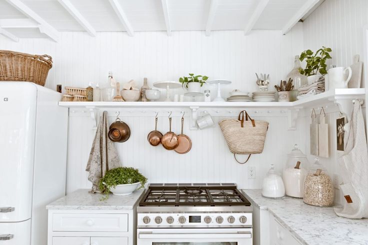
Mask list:
[{"label": "trailing green plant in white bowl on the counter", "polygon": [[[116,167],[106,171],[106,174],[99,180],[99,190],[101,193],[111,191],[114,195],[128,195],[136,188],[144,188],[147,178],[138,169],[133,167]],[[106,196],[106,197],[107,197]]]}]

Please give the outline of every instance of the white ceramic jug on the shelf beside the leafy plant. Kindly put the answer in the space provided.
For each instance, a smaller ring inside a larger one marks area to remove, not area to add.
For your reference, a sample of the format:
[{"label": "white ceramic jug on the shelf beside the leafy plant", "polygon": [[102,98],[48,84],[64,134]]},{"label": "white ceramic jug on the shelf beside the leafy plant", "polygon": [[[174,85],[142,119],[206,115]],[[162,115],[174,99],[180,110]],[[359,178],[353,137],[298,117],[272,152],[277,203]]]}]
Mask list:
[{"label": "white ceramic jug on the shelf beside the leafy plant", "polygon": [[[348,74],[346,74],[348,71]],[[347,88],[347,83],[351,78],[351,68],[345,67],[334,67],[328,70],[328,89],[332,90],[335,88]]]}]

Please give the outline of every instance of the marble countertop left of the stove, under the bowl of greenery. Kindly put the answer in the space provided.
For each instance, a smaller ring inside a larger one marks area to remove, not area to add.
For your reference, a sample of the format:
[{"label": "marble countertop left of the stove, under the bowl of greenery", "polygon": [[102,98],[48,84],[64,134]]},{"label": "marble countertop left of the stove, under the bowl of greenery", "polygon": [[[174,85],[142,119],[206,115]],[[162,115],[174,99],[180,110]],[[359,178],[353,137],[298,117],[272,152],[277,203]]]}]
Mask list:
[{"label": "marble countertop left of the stove, under the bowl of greenery", "polygon": [[46,205],[47,209],[133,209],[144,189],[137,189],[130,195],[109,194],[106,200],[100,200],[104,194],[91,194],[89,189],[77,189]]}]

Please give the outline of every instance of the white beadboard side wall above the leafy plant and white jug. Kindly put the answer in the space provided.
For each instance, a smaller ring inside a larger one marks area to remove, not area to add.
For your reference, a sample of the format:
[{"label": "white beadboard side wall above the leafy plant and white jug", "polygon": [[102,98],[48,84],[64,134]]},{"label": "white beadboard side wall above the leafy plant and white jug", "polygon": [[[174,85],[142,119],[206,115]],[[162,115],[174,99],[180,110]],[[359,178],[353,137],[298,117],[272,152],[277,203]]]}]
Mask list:
[{"label": "white beadboard side wall above the leafy plant and white jug", "polygon": [[303,22],[304,48],[314,51],[321,46],[331,47],[332,60],[328,64],[336,66],[352,64],[355,54],[363,61],[367,12],[367,0],[325,0]]}]

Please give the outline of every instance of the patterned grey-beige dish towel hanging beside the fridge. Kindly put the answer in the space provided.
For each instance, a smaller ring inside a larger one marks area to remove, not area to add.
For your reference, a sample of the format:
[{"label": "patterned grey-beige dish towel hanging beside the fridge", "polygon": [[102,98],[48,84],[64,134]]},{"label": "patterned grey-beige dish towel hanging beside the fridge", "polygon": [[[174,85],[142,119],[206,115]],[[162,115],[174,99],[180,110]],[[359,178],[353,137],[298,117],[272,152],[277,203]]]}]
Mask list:
[{"label": "patterned grey-beige dish towel hanging beside the fridge", "polygon": [[85,168],[86,171],[89,171],[88,180],[93,184],[90,190],[91,193],[98,191],[99,179],[105,175],[108,169],[121,166],[115,145],[108,138],[107,133],[107,111],[103,111]]}]

